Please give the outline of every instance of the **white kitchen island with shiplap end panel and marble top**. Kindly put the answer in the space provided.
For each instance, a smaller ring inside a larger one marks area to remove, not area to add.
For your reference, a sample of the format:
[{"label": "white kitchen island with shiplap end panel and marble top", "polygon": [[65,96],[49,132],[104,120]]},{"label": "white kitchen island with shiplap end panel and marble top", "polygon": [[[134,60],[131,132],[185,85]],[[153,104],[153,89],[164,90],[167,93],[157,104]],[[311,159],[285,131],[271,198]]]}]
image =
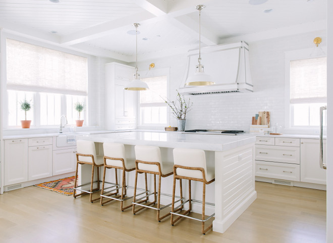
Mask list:
[{"label": "white kitchen island with shiplap end panel and marble top", "polygon": [[[154,145],[161,148],[163,161],[173,161],[173,148],[197,148],[206,153],[207,167],[215,168],[215,182],[206,188],[206,202],[215,203],[215,207],[206,205],[206,214],[215,212],[213,231],[224,233],[228,227],[256,199],[254,170],[254,136],[184,134],[180,132],[122,132],[91,134],[78,136],[77,139],[94,141],[97,154],[103,154],[103,142],[125,144],[126,154],[135,158],[135,145]],[[112,181],[113,172],[107,175]],[[79,170],[81,183],[90,181],[91,167],[83,165]],[[138,187],[143,187],[143,177],[138,178]],[[152,177],[149,178],[152,180]],[[149,180],[148,179],[148,180]],[[126,178],[126,185],[134,185],[134,174]],[[152,183],[150,183],[152,185]],[[172,176],[162,179],[162,193],[171,194]],[[186,188],[186,185],[183,185]],[[152,188],[151,188],[152,189]],[[202,187],[193,183],[193,199],[201,200]],[[130,190],[128,190],[130,194]],[[187,193],[183,194],[187,197]],[[169,204],[171,199],[162,198],[161,203]],[[192,211],[201,213],[201,205],[193,204]]]}]

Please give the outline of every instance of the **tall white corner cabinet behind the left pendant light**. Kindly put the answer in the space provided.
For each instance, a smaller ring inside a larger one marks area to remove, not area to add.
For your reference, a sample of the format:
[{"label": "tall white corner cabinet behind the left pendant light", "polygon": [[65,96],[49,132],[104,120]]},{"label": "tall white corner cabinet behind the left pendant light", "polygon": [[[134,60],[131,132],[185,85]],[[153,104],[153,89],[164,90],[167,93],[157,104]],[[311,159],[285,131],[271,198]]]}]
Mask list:
[{"label": "tall white corner cabinet behind the left pendant light", "polygon": [[[136,128],[137,92],[124,90],[135,68],[117,62],[105,64],[106,129]],[[122,126],[119,126],[121,124]]]}]

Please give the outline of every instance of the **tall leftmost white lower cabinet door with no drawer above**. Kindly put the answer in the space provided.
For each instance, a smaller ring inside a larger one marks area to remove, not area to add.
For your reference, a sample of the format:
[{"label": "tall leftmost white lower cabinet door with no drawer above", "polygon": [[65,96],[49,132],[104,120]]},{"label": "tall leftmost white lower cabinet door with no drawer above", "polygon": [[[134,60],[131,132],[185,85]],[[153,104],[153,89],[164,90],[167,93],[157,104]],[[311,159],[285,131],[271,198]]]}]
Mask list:
[{"label": "tall leftmost white lower cabinet door with no drawer above", "polygon": [[5,140],[5,186],[28,181],[28,139]]}]

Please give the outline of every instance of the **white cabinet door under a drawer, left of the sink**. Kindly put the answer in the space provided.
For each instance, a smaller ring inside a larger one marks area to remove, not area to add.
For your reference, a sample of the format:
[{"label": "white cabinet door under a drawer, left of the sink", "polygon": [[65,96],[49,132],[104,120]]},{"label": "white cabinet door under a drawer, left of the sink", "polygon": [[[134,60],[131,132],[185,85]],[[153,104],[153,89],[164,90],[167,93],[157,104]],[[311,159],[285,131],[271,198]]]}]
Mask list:
[{"label": "white cabinet door under a drawer, left of the sink", "polygon": [[28,181],[52,176],[52,145],[29,147]]}]

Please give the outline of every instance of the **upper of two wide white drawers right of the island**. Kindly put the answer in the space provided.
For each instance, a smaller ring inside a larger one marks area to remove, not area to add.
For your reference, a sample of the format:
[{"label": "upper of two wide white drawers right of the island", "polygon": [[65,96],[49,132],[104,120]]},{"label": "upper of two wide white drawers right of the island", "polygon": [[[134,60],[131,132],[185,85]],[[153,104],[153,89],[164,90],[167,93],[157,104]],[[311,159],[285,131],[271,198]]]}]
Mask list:
[{"label": "upper of two wide white drawers right of the island", "polygon": [[256,145],[255,159],[300,164],[300,148],[286,146]]}]

